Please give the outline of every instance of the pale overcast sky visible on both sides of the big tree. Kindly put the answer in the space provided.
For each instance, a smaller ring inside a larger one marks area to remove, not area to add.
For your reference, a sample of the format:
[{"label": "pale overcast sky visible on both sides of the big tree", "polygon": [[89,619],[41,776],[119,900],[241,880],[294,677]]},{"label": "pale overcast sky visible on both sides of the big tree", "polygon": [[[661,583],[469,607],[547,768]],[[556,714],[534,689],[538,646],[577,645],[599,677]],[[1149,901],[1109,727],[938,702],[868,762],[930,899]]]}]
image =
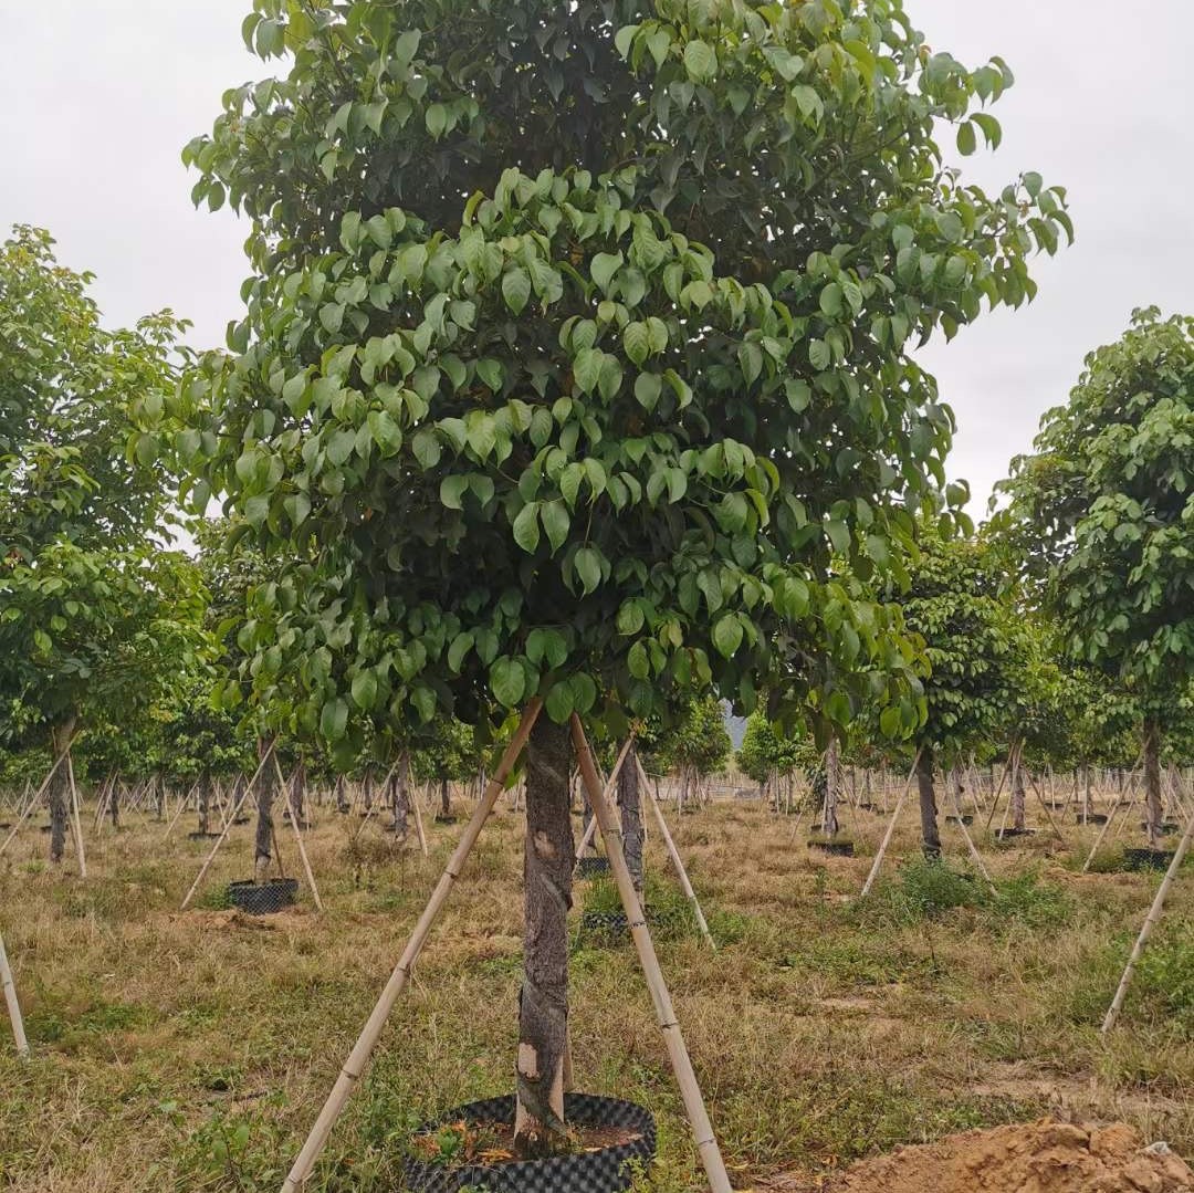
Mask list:
[{"label": "pale overcast sky visible on both sides of the big tree", "polygon": [[[1041,293],[925,357],[960,422],[950,472],[980,512],[1085,352],[1135,306],[1194,313],[1194,2],[906,0],[929,44],[968,64],[1005,57],[996,154],[967,159],[997,189],[1036,170],[1070,189],[1078,242],[1036,264]],[[48,227],[98,275],[112,324],[172,307],[199,346],[239,308],[244,226],[190,202],[179,150],[220,94],[263,64],[240,41],[248,0],[0,0],[0,233]]]}]

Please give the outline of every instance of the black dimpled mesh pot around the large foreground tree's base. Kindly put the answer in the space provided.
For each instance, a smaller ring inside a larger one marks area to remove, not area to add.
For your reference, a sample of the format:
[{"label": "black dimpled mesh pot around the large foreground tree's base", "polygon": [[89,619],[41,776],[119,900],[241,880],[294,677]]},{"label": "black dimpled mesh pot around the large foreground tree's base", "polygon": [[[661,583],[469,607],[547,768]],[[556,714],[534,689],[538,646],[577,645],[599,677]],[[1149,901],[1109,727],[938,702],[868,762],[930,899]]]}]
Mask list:
[{"label": "black dimpled mesh pot around the large foreground tree's base", "polygon": [[[424,1160],[408,1158],[404,1164],[406,1186],[417,1193],[456,1193],[457,1189],[487,1189],[490,1193],[618,1193],[634,1183],[638,1169],[646,1170],[656,1155],[656,1120],[641,1106],[616,1097],[592,1094],[565,1094],[564,1117],[577,1126],[629,1127],[641,1132],[633,1143],[576,1156],[516,1161],[509,1164],[466,1164],[447,1168]],[[427,1123],[427,1133],[449,1123],[512,1123],[513,1097],[491,1097],[469,1102]]]}]

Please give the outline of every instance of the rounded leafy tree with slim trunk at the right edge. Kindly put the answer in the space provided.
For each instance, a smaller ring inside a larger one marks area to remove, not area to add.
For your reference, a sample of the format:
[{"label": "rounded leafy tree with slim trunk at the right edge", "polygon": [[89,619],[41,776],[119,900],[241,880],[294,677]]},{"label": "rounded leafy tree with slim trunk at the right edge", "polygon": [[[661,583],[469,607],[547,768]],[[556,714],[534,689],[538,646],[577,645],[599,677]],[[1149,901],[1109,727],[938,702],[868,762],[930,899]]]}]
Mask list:
[{"label": "rounded leafy tree with slim trunk at the right edge", "polygon": [[1194,319],[1137,310],[1085,361],[1035,453],[1011,465],[1010,518],[1070,652],[1141,709],[1149,842],[1159,841],[1167,721],[1194,679]]}]

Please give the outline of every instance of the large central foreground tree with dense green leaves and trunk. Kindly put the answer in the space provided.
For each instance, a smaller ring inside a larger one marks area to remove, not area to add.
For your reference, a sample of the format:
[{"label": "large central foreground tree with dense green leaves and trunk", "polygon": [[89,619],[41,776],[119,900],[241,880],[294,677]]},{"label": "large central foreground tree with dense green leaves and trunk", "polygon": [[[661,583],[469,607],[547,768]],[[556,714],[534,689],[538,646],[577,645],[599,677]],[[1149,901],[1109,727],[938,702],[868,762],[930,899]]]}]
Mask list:
[{"label": "large central foreground tree with dense green leaves and trunk", "polygon": [[378,707],[544,699],[517,1136],[552,1150],[562,726],[749,712],[781,671],[804,700],[824,668],[845,720],[860,662],[900,687],[830,556],[896,566],[953,428],[905,349],[1029,297],[1064,196],[941,167],[935,123],[997,142],[971,109],[1010,75],[930,54],[894,2],[259,0],[245,33],[293,67],[185,153],[252,221],[254,277],[178,443],[289,560],[245,629],[269,715],[355,752]]}]

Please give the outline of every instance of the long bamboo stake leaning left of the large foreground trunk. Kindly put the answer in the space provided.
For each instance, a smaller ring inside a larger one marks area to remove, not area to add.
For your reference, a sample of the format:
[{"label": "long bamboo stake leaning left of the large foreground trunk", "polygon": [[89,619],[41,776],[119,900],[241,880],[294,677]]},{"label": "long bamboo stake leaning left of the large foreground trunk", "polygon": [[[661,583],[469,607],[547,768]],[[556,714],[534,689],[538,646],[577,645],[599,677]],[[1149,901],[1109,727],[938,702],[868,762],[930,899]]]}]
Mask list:
[{"label": "long bamboo stake leaning left of the large foreground trunk", "polygon": [[402,992],[411,977],[411,971],[419,954],[423,952],[423,946],[426,943],[427,934],[436,922],[436,916],[439,915],[439,909],[451,892],[453,884],[460,877],[461,869],[473,845],[476,843],[476,838],[481,834],[481,829],[485,828],[485,822],[501,795],[506,775],[510,774],[511,768],[518,760],[518,755],[527,744],[531,726],[534,726],[535,718],[538,717],[542,707],[542,701],[537,696],[527,706],[522,721],[515,731],[510,745],[506,746],[506,751],[503,754],[501,761],[498,763],[498,769],[490,780],[481,801],[466,825],[463,836],[460,838],[460,843],[448,861],[447,869],[441,875],[435,891],[431,892],[431,899],[419,917],[419,922],[414,926],[414,931],[411,933],[411,939],[407,941],[406,948],[402,951],[402,955],[394,967],[394,972],[390,973],[389,980],[386,983],[386,988],[382,990],[381,997],[373,1009],[373,1014],[362,1028],[361,1035],[352,1046],[347,1060],[344,1062],[340,1075],[336,1078],[336,1084],[332,1087],[331,1094],[327,1095],[327,1101],[324,1103],[315,1125],[307,1136],[307,1142],[302,1145],[302,1150],[295,1158],[289,1175],[282,1182],[282,1193],[295,1193],[295,1191],[302,1188],[307,1177],[310,1176],[310,1170],[315,1167],[315,1161],[319,1160],[320,1152],[327,1143],[327,1137],[332,1133],[332,1127],[336,1126],[336,1121],[344,1109],[344,1103],[356,1088],[365,1065],[369,1063],[369,1058],[373,1056],[374,1049],[377,1046],[381,1029],[386,1026],[386,1020],[389,1017],[398,996]]}]

